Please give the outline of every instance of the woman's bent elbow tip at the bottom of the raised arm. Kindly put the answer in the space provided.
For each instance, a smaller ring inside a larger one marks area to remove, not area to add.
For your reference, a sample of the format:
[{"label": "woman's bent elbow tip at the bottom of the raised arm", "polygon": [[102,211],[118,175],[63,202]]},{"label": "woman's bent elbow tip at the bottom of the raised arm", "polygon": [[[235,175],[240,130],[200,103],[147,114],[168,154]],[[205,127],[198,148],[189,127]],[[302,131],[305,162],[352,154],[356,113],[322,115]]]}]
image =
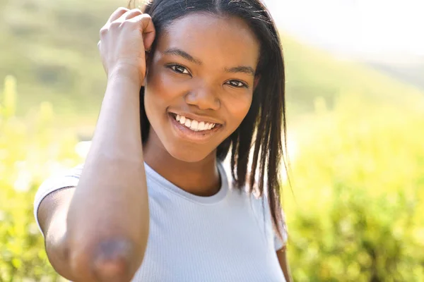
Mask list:
[{"label": "woman's bent elbow tip at the bottom of the raised arm", "polygon": [[131,240],[108,239],[94,246],[91,251],[89,248],[69,251],[69,266],[79,280],[131,281],[143,259]]}]

